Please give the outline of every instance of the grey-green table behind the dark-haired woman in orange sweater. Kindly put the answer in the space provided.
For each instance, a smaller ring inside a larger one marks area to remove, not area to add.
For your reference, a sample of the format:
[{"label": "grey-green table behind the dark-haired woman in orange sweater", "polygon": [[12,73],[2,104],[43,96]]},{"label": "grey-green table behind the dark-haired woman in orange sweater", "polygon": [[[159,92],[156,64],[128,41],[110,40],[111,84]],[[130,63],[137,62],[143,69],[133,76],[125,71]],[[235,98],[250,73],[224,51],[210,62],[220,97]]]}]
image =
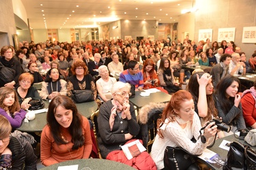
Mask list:
[{"label": "grey-green table behind the dark-haired woman in orange sweater", "polygon": [[[48,108],[49,101],[44,101],[44,103],[45,108]],[[76,103],[76,107],[81,115],[89,118],[91,114],[96,112],[98,109],[98,104],[96,101],[90,101],[86,103]],[[23,123],[17,130],[22,132],[42,132],[42,129],[46,124],[46,112],[44,112],[41,114],[35,114],[35,119],[29,121],[28,123],[25,123],[23,120]]]}]

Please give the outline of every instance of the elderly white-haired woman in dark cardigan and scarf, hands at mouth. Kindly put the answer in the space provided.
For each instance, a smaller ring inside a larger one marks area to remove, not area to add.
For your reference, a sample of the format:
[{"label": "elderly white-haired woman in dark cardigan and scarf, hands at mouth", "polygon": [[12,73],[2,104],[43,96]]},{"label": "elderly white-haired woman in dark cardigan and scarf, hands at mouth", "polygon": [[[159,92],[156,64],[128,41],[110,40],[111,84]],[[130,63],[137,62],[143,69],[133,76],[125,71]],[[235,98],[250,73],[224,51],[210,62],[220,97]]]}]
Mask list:
[{"label": "elderly white-haired woman in dark cardigan and scarf, hands at mouth", "polygon": [[113,99],[101,105],[98,116],[98,147],[102,158],[113,150],[121,150],[126,141],[139,133],[134,107],[129,103],[130,84],[116,82],[111,94]]}]

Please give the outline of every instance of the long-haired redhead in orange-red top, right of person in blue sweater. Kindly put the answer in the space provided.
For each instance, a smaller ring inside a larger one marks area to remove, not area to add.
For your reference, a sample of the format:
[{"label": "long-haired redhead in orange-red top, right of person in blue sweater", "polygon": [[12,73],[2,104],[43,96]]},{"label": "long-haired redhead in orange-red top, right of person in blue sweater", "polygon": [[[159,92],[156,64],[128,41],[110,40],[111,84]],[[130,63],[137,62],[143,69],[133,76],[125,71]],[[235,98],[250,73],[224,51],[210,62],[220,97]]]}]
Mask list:
[{"label": "long-haired redhead in orange-red top, right of person in blue sweater", "polygon": [[154,70],[155,63],[152,59],[147,59],[143,64],[143,81],[144,81],[144,89],[148,88],[156,88],[158,85],[158,76],[156,75],[156,71]]}]

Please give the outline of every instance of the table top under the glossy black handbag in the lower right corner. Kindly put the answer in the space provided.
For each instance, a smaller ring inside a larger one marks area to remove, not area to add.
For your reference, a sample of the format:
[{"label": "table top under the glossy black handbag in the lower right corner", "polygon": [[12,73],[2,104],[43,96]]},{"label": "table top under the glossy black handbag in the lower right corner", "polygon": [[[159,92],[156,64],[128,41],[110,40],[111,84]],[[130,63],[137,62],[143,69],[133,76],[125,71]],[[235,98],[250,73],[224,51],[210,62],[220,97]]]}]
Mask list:
[{"label": "table top under the glossy black handbag in the lower right corner", "polygon": [[[215,143],[214,143],[214,146],[212,146],[212,148],[209,148],[209,150],[212,150],[213,152],[215,152],[215,153],[217,153],[218,155],[220,155],[221,156],[221,158],[223,159],[223,160],[225,160],[226,158],[227,158],[227,150],[223,150],[222,148],[219,148],[219,146],[221,145],[221,142],[223,141],[223,140],[227,140],[227,141],[230,141],[230,142],[232,142],[232,141],[239,141],[240,143],[243,143],[243,144],[245,144],[245,145],[248,145],[248,143],[246,143],[246,141],[244,141],[244,140],[240,140],[240,139],[236,139],[236,137],[234,137],[234,135],[229,135],[229,136],[227,136],[227,137],[223,137],[223,138],[221,138],[221,139],[217,139],[216,141],[215,141]],[[251,148],[253,148],[253,150],[256,150],[256,146],[250,146]],[[204,161],[203,161],[204,162]],[[212,169],[218,169],[218,168],[216,168],[216,167],[212,167],[212,165],[210,165],[210,164],[208,164],[208,163],[205,163],[205,164],[207,164],[210,168],[212,168]],[[222,167],[220,168],[220,170],[221,169],[223,169]]]}]

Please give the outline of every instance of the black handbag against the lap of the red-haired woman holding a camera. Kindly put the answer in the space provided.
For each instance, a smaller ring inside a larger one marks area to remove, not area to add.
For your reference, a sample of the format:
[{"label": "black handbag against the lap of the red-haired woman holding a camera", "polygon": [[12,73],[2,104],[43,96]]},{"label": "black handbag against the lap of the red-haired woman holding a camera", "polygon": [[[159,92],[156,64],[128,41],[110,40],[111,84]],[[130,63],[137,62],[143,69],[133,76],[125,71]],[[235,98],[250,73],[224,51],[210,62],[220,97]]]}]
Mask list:
[{"label": "black handbag against the lap of the red-haired woman holding a camera", "polygon": [[165,169],[179,169],[179,170],[199,170],[196,164],[196,156],[188,153],[182,147],[165,148],[164,165]]}]

